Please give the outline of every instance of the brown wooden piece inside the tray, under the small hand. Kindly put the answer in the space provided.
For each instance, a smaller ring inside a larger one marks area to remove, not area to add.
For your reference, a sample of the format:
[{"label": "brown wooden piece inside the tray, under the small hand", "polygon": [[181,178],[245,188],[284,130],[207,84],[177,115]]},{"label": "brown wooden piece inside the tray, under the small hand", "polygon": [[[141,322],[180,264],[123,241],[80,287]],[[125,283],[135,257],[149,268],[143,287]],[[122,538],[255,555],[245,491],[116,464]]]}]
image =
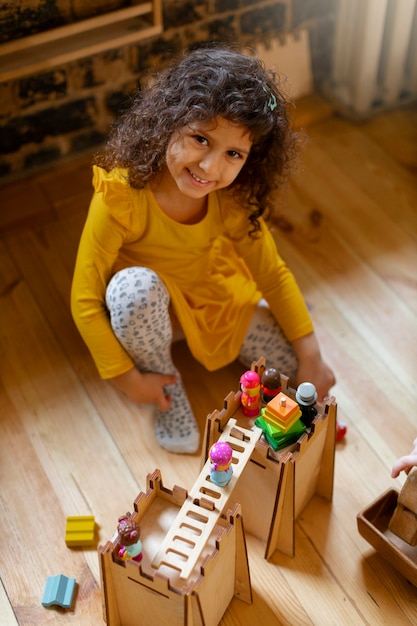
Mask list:
[{"label": "brown wooden piece inside the tray, under the small hand", "polygon": [[417,467],[407,476],[388,528],[411,546],[417,545]]}]

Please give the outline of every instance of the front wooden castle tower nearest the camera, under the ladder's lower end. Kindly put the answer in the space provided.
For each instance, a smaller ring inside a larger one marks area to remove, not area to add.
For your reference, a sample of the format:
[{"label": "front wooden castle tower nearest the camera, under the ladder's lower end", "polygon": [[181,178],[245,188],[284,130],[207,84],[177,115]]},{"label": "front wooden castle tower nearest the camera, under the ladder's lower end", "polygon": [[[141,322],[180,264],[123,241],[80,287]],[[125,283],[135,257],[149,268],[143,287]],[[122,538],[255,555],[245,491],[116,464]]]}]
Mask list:
[{"label": "front wooden castle tower nearest the camera, under the ladder's lower end", "polygon": [[204,554],[188,579],[181,578],[172,565],[152,566],[153,555],[188,498],[184,489],[163,487],[161,474],[155,470],[147,478],[146,492],[134,502],[135,521],[140,523],[143,536],[142,561],[117,557],[117,533],[99,547],[103,613],[108,626],[136,626],[138,615],[141,626],[217,626],[233,596],[252,601],[238,505],[218,516]]}]

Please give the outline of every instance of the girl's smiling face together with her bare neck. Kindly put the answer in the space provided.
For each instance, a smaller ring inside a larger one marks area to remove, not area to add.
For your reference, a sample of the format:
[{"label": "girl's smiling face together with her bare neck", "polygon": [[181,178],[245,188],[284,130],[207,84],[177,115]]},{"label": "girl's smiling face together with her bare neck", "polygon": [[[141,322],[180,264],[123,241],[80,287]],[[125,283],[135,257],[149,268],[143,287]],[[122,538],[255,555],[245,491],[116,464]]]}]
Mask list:
[{"label": "girl's smiling face together with her bare neck", "polygon": [[[193,221],[209,192],[235,180],[251,146],[248,130],[222,117],[176,132],[168,144],[166,169],[153,187],[161,208],[178,221]],[[175,205],[181,214],[174,212]]]}]

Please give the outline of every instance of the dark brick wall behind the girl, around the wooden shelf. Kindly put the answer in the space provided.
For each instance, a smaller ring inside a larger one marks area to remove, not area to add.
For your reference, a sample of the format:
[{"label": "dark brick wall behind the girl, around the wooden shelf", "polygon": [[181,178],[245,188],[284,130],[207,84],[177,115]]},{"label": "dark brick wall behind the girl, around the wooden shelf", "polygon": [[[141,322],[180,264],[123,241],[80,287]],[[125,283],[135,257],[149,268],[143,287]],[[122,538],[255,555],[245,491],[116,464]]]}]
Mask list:
[{"label": "dark brick wall behind the girl, around the wooden shelf", "polygon": [[[337,2],[163,0],[161,35],[0,83],[0,182],[92,150],[141,77],[191,44],[223,40],[251,46],[306,27],[320,89],[330,69]],[[0,32],[3,41],[15,39],[130,4],[124,0],[0,3]]]}]

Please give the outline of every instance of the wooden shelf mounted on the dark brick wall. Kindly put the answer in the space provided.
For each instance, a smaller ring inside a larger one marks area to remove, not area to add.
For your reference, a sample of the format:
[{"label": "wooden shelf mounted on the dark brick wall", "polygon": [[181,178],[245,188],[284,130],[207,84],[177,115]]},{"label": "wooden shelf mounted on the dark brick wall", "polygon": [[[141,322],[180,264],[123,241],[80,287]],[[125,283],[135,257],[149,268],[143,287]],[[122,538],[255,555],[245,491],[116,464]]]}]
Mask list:
[{"label": "wooden shelf mounted on the dark brick wall", "polygon": [[161,32],[161,0],[152,0],[16,39],[0,45],[0,82],[30,76]]}]

